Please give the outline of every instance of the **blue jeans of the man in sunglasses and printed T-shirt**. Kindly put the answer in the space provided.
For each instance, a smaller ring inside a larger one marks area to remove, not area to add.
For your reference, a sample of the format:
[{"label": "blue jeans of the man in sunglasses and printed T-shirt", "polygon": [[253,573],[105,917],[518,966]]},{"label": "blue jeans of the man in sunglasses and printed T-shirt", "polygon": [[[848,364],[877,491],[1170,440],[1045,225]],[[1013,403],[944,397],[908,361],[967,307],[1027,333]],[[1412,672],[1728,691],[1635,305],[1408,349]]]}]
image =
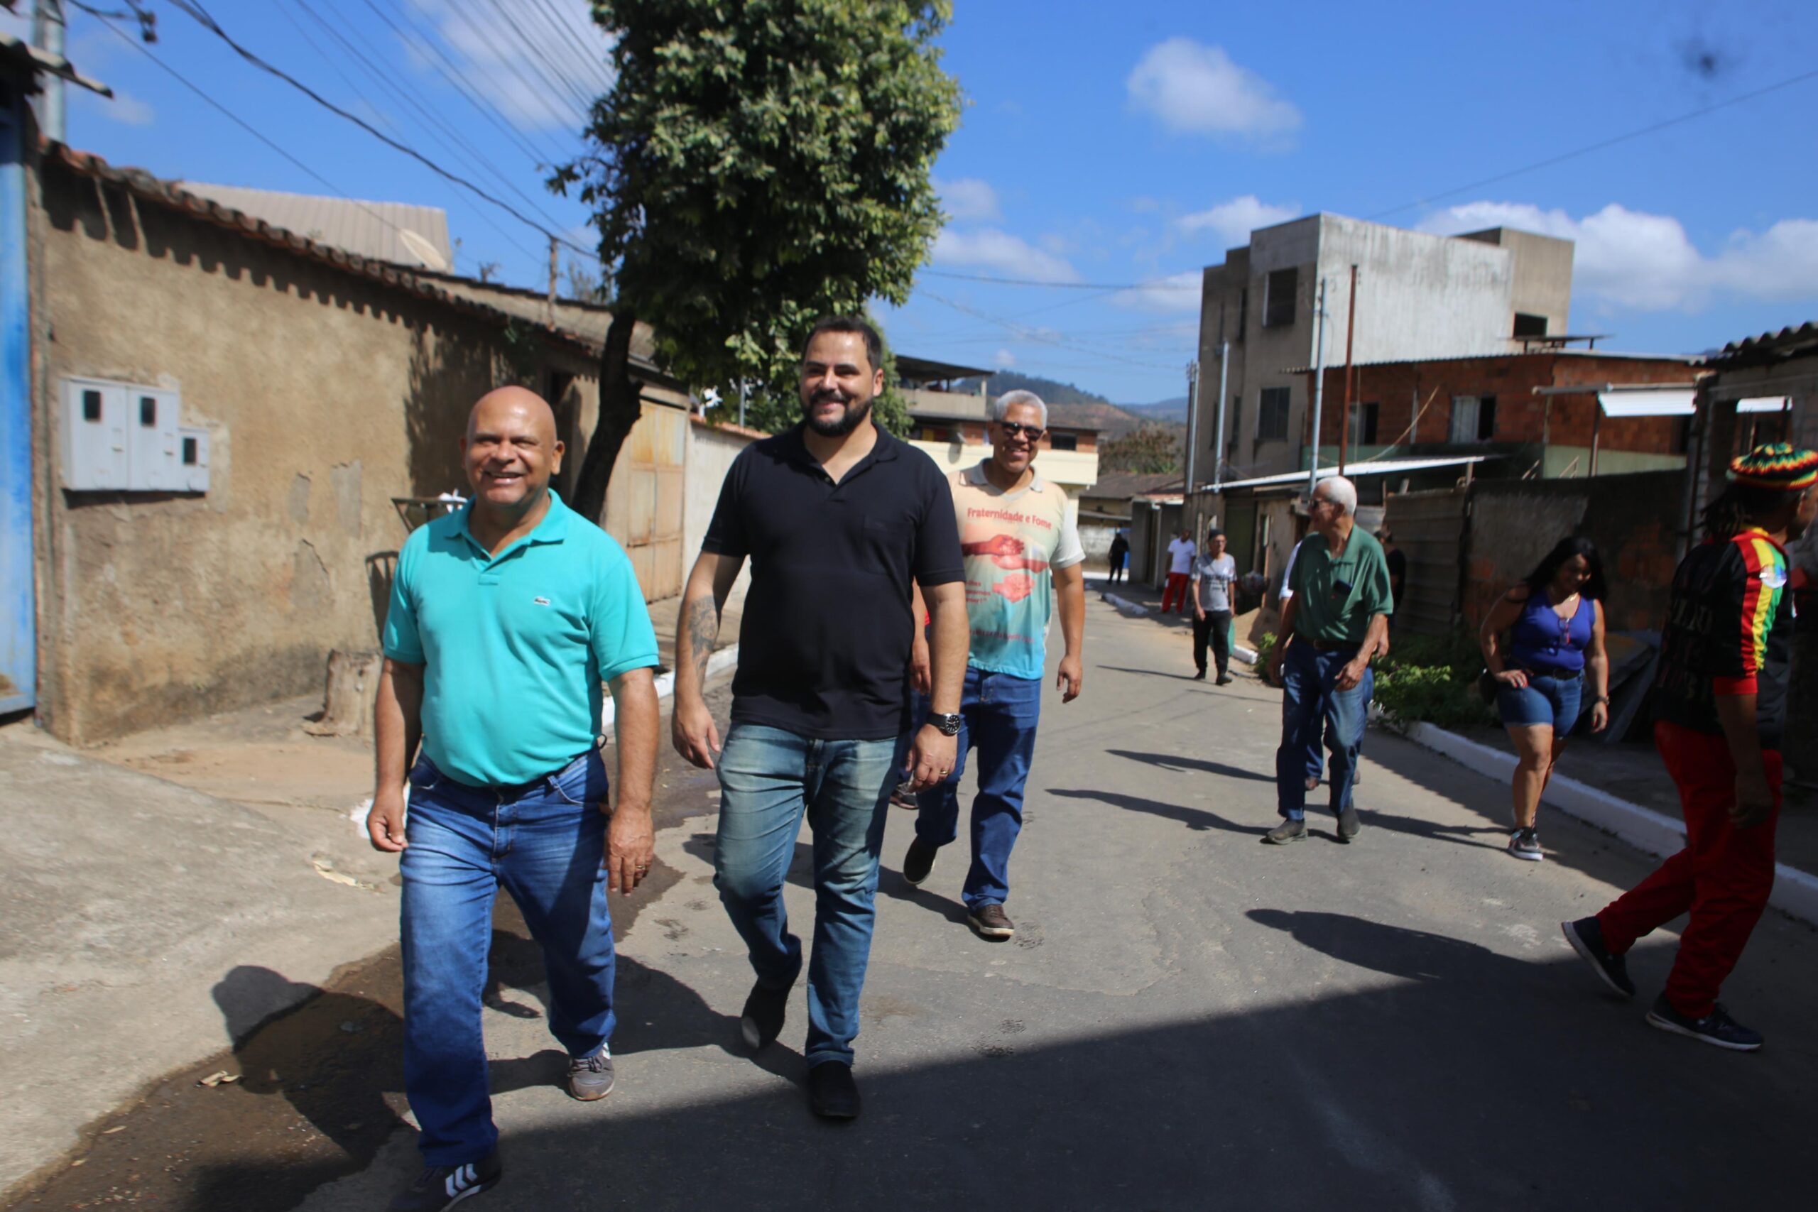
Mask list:
[{"label": "blue jeans of the man in sunglasses and printed T-shirt", "polygon": [[[924,712],[916,712],[916,720]],[[1024,783],[1034,758],[1034,725],[1042,718],[1042,680],[965,669],[960,736],[953,774],[916,796],[922,810],[914,836],[944,847],[960,834],[960,776],[965,752],[978,749],[978,796],[973,800],[973,865],[962,898],[967,909],[1009,899],[1011,847],[1022,832]]]}]

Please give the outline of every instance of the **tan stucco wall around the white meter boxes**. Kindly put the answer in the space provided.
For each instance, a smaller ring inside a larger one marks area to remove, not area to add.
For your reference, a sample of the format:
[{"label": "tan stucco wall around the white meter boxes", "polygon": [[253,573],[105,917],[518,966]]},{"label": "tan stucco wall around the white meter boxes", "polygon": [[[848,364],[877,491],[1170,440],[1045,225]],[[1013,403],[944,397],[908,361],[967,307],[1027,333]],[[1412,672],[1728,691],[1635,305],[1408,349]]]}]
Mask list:
[{"label": "tan stucco wall around the white meter boxes", "polygon": [[[467,409],[509,373],[500,329],[62,167],[36,202],[40,720],[96,741],[320,689],[331,649],[376,647],[391,498],[464,483]],[[591,414],[589,362],[545,356]],[[209,492],[65,492],[67,374],[180,391]]]}]

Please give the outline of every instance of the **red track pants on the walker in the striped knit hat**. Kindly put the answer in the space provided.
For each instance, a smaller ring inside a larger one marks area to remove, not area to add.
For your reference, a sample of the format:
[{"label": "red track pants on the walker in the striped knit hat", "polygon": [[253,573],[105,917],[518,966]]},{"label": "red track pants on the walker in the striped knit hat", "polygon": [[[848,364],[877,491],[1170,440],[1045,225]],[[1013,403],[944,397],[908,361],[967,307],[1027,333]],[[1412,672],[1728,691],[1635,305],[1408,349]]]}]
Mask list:
[{"label": "red track pants on the walker in the striped knit hat", "polygon": [[1691,912],[1667,976],[1667,1001],[1680,1014],[1703,1018],[1749,945],[1774,887],[1780,754],[1763,754],[1774,814],[1753,829],[1736,829],[1729,821],[1736,803],[1736,765],[1723,738],[1654,723],[1654,747],[1680,789],[1685,849],[1611,901],[1596,919],[1603,927],[1603,945],[1620,956],[1649,930]]}]

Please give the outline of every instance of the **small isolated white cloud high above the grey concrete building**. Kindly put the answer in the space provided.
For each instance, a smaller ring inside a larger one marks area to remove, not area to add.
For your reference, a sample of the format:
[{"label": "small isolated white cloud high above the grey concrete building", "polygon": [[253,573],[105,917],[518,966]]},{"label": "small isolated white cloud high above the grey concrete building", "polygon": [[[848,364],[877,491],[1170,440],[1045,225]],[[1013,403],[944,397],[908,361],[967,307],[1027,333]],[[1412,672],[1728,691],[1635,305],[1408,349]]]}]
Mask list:
[{"label": "small isolated white cloud high above the grey concrete building", "polygon": [[1280,140],[1300,129],[1300,109],[1276,96],[1256,73],[1238,67],[1224,47],[1169,38],[1149,47],[1125,80],[1131,107],[1147,111],[1176,134]]}]

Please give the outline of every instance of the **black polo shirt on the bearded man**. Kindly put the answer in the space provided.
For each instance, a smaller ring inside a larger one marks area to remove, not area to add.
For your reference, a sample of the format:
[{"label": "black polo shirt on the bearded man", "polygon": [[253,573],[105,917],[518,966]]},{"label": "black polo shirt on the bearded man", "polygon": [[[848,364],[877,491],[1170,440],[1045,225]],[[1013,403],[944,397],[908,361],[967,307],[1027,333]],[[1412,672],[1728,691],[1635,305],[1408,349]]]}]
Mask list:
[{"label": "black polo shirt on the bearded man", "polygon": [[725,472],[702,551],[751,558],[733,723],[818,740],[909,729],[909,581],[965,576],[934,460],[878,429],[834,483],[802,425],[764,438]]}]

